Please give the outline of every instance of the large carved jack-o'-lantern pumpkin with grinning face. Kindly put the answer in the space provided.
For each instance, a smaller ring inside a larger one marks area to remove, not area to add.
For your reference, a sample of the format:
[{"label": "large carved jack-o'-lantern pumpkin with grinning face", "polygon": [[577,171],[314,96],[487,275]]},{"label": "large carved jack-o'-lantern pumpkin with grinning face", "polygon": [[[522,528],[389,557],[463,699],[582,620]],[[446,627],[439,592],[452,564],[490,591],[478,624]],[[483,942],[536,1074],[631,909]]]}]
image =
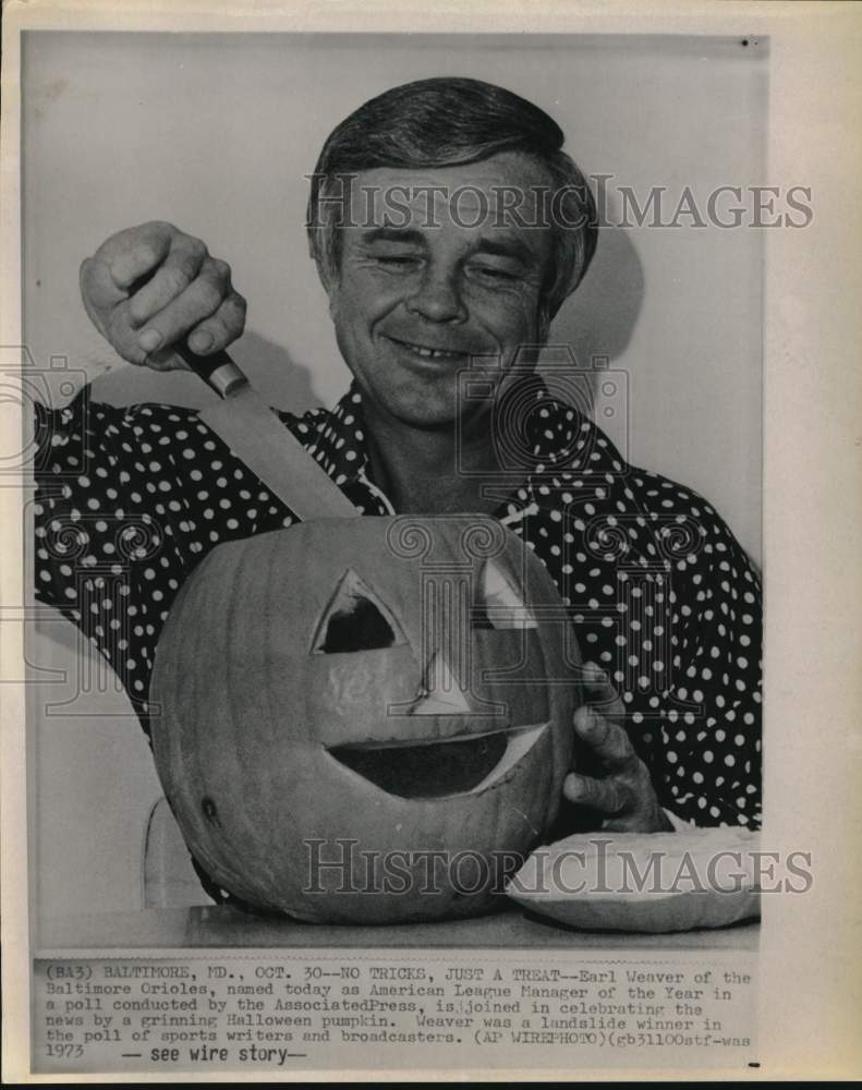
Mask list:
[{"label": "large carved jack-o'-lantern pumpkin with grinning face", "polygon": [[156,764],[193,855],[252,907],[474,915],[556,816],[579,662],[499,523],[309,522],[221,545],[181,590]]}]

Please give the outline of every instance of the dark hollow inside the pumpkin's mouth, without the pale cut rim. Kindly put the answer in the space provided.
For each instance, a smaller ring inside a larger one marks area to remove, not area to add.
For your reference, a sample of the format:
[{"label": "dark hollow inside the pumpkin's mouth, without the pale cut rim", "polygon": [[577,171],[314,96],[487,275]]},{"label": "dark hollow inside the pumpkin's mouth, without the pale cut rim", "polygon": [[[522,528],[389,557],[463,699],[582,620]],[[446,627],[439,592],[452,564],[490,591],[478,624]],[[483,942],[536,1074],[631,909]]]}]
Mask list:
[{"label": "dark hollow inside the pumpkin's mouth, without the pale cut rim", "polygon": [[389,795],[433,799],[470,791],[500,762],[503,731],[420,746],[337,746],[329,752]]}]

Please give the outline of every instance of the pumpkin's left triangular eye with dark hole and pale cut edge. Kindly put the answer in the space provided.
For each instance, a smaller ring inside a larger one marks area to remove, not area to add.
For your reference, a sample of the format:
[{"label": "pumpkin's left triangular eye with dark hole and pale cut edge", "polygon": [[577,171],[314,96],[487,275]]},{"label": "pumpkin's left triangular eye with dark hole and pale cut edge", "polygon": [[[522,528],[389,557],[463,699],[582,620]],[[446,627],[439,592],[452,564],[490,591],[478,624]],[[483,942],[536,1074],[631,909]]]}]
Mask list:
[{"label": "pumpkin's left triangular eye with dark hole and pale cut edge", "polygon": [[324,655],[375,651],[405,643],[398,622],[352,568],[341,577],[314,638]]}]

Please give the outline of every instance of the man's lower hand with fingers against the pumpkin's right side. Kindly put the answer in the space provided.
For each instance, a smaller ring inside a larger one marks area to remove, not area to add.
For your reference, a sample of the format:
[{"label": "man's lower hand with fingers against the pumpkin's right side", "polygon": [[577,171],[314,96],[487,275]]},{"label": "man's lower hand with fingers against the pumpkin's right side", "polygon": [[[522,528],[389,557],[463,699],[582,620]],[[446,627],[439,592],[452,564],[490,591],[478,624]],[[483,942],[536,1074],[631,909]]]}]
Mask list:
[{"label": "man's lower hand with fingers against the pumpkin's right side", "polygon": [[595,663],[584,665],[584,690],[588,703],[574,713],[574,729],[598,760],[603,774],[594,777],[569,773],[563,795],[570,802],[604,814],[602,828],[608,832],[671,831],[673,826],[658,803],[649,772],[622,725],[622,701]]}]

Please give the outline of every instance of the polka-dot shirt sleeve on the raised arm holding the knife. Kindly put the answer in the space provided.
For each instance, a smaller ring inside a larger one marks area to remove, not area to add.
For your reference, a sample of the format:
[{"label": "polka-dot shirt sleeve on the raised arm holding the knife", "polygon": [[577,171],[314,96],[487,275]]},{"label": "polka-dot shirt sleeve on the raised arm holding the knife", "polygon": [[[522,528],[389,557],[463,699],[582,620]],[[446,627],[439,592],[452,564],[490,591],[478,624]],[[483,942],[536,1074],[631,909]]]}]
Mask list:
[{"label": "polka-dot shirt sleeve on the raised arm holding the knife", "polygon": [[290,524],[194,410],[37,405],[35,583],[110,663],[145,729],[156,644],[189,572],[221,541]]}]

